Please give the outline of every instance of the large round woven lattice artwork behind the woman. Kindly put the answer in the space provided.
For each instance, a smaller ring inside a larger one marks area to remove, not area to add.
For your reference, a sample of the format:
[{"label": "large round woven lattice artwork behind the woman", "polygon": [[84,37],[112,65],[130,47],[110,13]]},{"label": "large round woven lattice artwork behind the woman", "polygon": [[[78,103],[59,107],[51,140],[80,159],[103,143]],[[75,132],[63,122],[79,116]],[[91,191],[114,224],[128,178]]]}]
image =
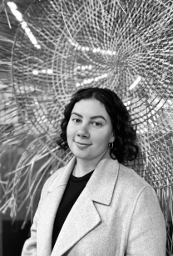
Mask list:
[{"label": "large round woven lattice artwork behind the woman", "polygon": [[38,147],[30,150],[54,153],[54,170],[67,163],[55,150],[65,105],[78,88],[110,88],[137,127],[141,156],[126,164],[156,190],[171,188],[172,15],[172,1],[34,1],[12,49],[17,106]]}]

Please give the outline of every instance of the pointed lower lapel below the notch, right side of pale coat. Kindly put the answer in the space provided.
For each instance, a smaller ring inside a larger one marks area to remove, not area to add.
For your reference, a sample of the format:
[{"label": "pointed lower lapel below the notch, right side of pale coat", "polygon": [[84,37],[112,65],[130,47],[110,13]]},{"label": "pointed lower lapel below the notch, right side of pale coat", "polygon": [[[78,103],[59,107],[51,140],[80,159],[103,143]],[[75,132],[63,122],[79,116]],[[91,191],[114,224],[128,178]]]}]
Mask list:
[{"label": "pointed lower lapel below the notch, right side of pale coat", "polygon": [[62,256],[99,223],[101,218],[84,189],[68,214],[51,255]]}]

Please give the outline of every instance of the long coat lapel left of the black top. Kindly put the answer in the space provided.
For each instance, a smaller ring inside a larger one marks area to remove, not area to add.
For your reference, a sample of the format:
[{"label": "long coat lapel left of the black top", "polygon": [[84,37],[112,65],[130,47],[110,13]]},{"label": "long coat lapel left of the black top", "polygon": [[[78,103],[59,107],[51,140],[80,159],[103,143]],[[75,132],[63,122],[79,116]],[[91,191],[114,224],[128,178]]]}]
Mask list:
[{"label": "long coat lapel left of the black top", "polygon": [[42,214],[40,214],[37,228],[37,243],[40,244],[40,246],[38,246],[40,248],[38,252],[39,255],[51,255],[54,219],[75,163],[76,158],[72,158],[67,164],[67,167],[63,169],[62,175],[60,176],[57,173],[56,178],[50,182],[49,187],[47,188],[48,194],[47,198],[42,203]]}]

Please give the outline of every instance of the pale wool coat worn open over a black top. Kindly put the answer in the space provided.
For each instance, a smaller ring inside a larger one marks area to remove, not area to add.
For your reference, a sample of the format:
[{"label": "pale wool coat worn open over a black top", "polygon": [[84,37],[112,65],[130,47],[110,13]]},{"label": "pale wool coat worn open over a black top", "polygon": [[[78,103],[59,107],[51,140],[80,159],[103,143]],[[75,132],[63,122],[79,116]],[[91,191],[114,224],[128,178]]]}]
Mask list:
[{"label": "pale wool coat worn open over a black top", "polygon": [[75,163],[74,157],[47,179],[22,256],[165,256],[166,224],[154,189],[107,154],[52,250],[54,218]]}]

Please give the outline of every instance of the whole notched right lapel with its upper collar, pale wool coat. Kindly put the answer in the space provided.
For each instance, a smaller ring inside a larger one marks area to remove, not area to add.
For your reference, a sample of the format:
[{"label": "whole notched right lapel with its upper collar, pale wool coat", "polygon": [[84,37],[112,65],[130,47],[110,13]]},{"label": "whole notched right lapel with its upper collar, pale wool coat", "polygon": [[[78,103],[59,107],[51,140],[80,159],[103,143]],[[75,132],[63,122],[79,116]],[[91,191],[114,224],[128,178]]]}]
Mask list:
[{"label": "whole notched right lapel with its upper collar, pale wool coat", "polygon": [[82,237],[101,223],[94,202],[110,205],[119,170],[119,163],[107,153],[96,166],[86,188],[82,191],[68,214],[52,256],[62,256]]}]

